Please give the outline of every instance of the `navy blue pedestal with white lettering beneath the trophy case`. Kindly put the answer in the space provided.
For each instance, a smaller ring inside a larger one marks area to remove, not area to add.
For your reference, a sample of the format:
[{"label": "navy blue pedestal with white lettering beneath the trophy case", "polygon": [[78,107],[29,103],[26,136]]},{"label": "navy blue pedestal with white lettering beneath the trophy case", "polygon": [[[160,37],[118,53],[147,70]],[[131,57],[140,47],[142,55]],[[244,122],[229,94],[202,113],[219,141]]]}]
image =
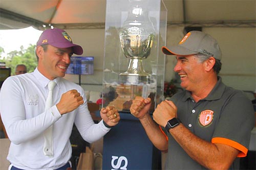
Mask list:
[{"label": "navy blue pedestal with white lettering beneath the trophy case", "polygon": [[119,114],[120,122],[103,139],[102,169],[161,169],[161,152],[148,139],[139,119]]}]

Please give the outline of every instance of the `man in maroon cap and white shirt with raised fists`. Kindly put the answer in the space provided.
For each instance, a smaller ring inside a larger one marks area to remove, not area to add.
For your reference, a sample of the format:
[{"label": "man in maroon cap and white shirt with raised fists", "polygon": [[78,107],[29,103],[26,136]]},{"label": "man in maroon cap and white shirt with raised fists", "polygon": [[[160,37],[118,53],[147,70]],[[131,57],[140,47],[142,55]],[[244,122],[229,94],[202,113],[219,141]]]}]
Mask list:
[{"label": "man in maroon cap and white shirt with raised fists", "polygon": [[[73,44],[61,29],[45,30],[36,46],[37,68],[30,74],[6,79],[0,93],[0,111],[11,145],[9,169],[67,169],[72,148],[69,141],[73,124],[84,140],[94,142],[118,124],[114,107],[102,108],[102,120],[94,124],[83,89],[63,79],[73,53],[82,47]],[[53,106],[45,110],[48,83],[53,89]],[[43,152],[46,130],[52,127],[52,154]]]}]

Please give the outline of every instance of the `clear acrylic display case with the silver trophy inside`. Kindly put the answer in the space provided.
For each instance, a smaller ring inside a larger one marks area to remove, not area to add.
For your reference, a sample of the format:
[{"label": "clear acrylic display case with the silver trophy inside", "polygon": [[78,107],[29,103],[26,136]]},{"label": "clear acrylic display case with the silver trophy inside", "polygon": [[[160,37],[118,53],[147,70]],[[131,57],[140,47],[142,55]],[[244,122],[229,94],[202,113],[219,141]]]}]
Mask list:
[{"label": "clear acrylic display case with the silver trophy inside", "polygon": [[167,10],[161,0],[107,0],[102,107],[130,112],[135,96],[164,100]]}]

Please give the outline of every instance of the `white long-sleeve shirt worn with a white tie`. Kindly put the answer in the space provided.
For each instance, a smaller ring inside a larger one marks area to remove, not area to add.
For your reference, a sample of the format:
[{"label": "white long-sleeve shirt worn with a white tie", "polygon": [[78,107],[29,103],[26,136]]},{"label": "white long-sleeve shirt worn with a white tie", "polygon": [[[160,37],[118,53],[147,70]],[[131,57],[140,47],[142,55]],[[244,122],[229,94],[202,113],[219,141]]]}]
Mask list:
[{"label": "white long-sleeve shirt worn with a white tie", "polygon": [[[11,145],[7,159],[22,169],[56,169],[71,158],[69,141],[73,124],[84,140],[93,142],[109,132],[102,121],[94,124],[88,110],[83,89],[63,78],[56,78],[54,106],[45,111],[50,80],[36,68],[30,74],[11,76],[5,80],[0,92],[0,113]],[[56,104],[62,93],[76,89],[84,104],[74,111],[59,113]],[[43,153],[44,131],[53,125],[53,157]]]}]

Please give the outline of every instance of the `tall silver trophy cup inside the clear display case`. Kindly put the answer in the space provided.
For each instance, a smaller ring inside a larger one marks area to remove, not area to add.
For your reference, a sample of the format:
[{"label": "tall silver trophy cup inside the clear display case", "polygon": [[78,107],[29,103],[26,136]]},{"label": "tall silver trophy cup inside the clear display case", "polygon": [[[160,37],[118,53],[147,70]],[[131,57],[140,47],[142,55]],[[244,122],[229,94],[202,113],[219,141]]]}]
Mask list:
[{"label": "tall silver trophy cup inside the clear display case", "polygon": [[130,59],[130,63],[128,69],[120,73],[119,82],[125,84],[148,82],[150,74],[144,70],[142,60],[150,55],[154,39],[154,27],[147,11],[139,4],[132,4],[131,11],[120,30],[122,52]]}]

